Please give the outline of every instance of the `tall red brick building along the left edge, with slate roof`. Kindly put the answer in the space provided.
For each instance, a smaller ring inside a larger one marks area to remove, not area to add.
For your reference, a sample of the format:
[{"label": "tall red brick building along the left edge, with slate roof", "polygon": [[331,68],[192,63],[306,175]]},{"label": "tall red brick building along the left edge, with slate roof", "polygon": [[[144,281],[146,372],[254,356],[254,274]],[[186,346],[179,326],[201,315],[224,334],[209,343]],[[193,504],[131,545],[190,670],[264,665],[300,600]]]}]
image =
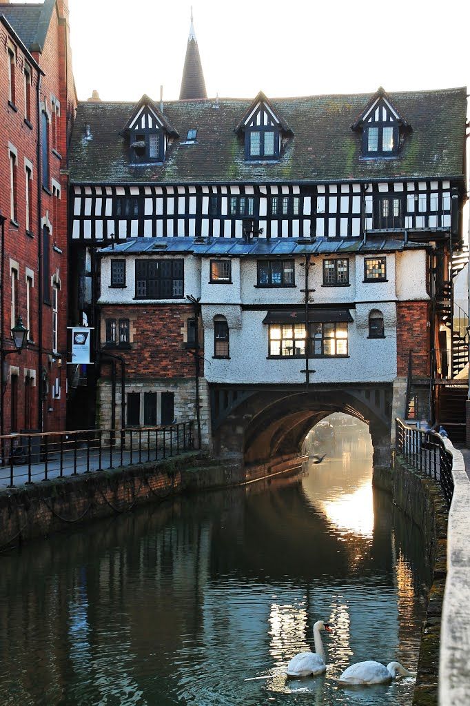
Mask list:
[{"label": "tall red brick building along the left edge, with slate roof", "polygon": [[[2,431],[66,424],[68,141],[76,111],[67,0],[0,3]],[[23,320],[20,354],[11,328]]]}]

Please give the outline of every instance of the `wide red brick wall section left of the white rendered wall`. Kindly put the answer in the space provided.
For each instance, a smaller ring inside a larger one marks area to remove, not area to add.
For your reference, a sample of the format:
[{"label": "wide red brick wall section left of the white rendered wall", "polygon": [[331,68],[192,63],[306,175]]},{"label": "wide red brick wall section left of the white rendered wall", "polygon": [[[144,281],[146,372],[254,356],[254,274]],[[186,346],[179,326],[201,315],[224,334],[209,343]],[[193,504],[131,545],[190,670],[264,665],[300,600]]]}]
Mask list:
[{"label": "wide red brick wall section left of the white rendered wall", "polygon": [[[193,316],[193,307],[186,304],[102,306],[102,347],[106,340],[106,319],[128,318],[131,322],[131,350],[109,349],[126,360],[128,381],[193,378],[193,349],[185,347],[182,333],[188,316]],[[203,375],[202,363],[200,374]]]}]

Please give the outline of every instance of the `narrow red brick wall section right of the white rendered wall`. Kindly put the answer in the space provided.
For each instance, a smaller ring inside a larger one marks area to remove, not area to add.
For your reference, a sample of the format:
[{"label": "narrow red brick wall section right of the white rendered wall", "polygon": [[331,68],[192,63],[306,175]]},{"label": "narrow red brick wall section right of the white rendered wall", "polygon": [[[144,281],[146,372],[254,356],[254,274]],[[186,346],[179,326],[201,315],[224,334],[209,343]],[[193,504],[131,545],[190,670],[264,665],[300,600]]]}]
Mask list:
[{"label": "narrow red brick wall section right of the white rendered wall", "polygon": [[427,301],[397,303],[397,374],[408,374],[411,350],[413,375],[429,375],[430,305]]}]

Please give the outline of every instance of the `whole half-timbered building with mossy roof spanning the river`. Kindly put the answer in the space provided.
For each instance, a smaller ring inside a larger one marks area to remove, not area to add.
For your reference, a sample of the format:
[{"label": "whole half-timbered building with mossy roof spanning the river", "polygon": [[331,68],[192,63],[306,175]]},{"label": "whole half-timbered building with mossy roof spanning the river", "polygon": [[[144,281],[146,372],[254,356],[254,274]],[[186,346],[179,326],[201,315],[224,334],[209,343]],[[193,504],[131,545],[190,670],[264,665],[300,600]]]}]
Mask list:
[{"label": "whole half-timbered building with mossy roof spanning the river", "polygon": [[[347,409],[390,431],[406,397],[428,418],[406,376],[452,377],[465,115],[464,88],[80,103],[76,320],[86,311],[103,360],[126,361],[116,424],[199,410],[205,445],[254,462],[263,429],[288,450],[289,414],[303,430]],[[323,411],[274,411],[305,390]]]}]

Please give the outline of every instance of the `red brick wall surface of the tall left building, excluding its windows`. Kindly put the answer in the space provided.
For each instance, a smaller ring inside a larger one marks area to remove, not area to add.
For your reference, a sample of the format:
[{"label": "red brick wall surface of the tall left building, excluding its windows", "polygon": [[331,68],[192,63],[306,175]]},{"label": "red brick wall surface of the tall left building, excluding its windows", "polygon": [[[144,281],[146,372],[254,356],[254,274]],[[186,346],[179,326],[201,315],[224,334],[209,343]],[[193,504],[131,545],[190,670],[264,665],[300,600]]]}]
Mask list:
[{"label": "red brick wall surface of the tall left building, excluding its windows", "polygon": [[[62,3],[66,6],[66,2]],[[66,7],[64,8],[66,11]],[[44,102],[47,109],[51,110],[51,95],[59,99],[61,104],[61,117],[58,124],[58,140],[56,152],[52,152],[52,135],[49,139],[49,191],[51,179],[61,185],[60,200],[52,193],[42,189],[40,181],[40,165],[37,161],[37,82],[38,73],[32,67],[32,86],[30,91],[30,116],[32,129],[25,123],[25,105],[23,95],[23,66],[30,59],[15,42],[16,54],[16,112],[8,105],[8,54],[6,52],[6,30],[0,25],[0,208],[6,216],[5,222],[5,248],[4,248],[4,346],[11,349],[11,278],[10,259],[19,265],[18,273],[18,313],[26,322],[26,277],[25,268],[34,273],[34,287],[31,292],[31,321],[32,342],[20,355],[10,355],[6,358],[8,366],[19,368],[18,379],[18,429],[25,428],[25,370],[35,371],[36,387],[32,390],[32,419],[30,427],[40,428],[40,410],[38,392],[41,370],[47,373],[49,391],[44,390],[42,405],[42,428],[44,431],[65,429],[66,427],[66,352],[67,352],[67,195],[68,177],[62,174],[67,167],[67,133],[75,112],[76,97],[71,77],[70,49],[68,44],[68,25],[52,13],[52,20],[47,32],[47,39],[42,54],[35,53],[33,58],[40,64],[45,76],[42,77],[40,88],[40,101]],[[10,38],[13,40],[13,38]],[[66,71],[66,56],[68,68]],[[66,81],[68,76],[68,85]],[[49,123],[49,128],[52,124]],[[8,143],[11,143],[18,152],[17,160],[17,224],[10,220],[10,167]],[[30,234],[26,233],[25,210],[25,158],[32,162],[32,194],[30,204]],[[42,205],[38,211],[38,197]],[[50,252],[49,267],[51,275],[57,273],[61,282],[59,292],[59,356],[52,359],[52,306],[40,301],[40,237],[42,236],[41,222],[47,219],[50,223]],[[42,340],[39,337],[39,320],[42,314]],[[8,368],[6,374],[6,393],[4,397],[4,431],[10,431],[10,406],[11,385]],[[52,398],[52,385],[56,378],[61,381],[61,399]]]}]

